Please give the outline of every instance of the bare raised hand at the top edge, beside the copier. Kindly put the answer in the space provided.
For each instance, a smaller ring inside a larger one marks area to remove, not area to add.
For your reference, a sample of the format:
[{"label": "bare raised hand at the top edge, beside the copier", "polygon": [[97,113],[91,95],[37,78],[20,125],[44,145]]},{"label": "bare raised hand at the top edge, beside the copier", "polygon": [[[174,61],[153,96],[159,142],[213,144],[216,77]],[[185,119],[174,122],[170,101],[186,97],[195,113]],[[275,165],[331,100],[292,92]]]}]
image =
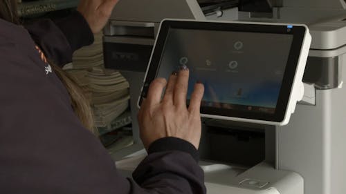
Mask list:
[{"label": "bare raised hand at the top edge, beside the copier", "polygon": [[81,0],[77,10],[84,16],[95,34],[106,25],[116,3],[118,0]]}]

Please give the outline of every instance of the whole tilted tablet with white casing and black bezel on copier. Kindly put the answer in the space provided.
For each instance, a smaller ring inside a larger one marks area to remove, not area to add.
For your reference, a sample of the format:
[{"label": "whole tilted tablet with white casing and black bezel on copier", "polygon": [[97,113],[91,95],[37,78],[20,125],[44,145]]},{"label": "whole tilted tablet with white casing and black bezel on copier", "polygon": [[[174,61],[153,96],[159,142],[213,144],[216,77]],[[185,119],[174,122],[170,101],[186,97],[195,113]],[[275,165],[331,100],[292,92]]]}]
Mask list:
[{"label": "whole tilted tablet with white casing and black bezel on copier", "polygon": [[185,65],[188,103],[194,84],[204,84],[203,117],[286,124],[310,42],[303,25],[165,20],[138,104],[156,77],[167,79]]}]

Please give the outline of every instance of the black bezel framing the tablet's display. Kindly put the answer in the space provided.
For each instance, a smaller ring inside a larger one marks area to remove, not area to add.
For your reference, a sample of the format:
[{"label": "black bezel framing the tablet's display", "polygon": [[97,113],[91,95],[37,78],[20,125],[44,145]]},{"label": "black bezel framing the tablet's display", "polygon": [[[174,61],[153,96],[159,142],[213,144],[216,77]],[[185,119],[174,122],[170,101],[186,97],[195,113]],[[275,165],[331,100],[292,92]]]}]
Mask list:
[{"label": "black bezel framing the tablet's display", "polygon": [[143,98],[146,97],[149,84],[156,78],[159,69],[161,57],[165,48],[166,39],[170,28],[187,29],[187,30],[217,30],[217,31],[230,31],[230,32],[257,32],[257,33],[271,33],[282,35],[293,35],[291,48],[289,50],[289,57],[287,60],[286,68],[284,70],[284,77],[282,79],[282,86],[280,88],[279,97],[277,99],[277,106],[275,113],[268,114],[262,112],[248,112],[235,109],[215,108],[208,106],[201,106],[201,114],[203,115],[218,115],[223,117],[237,117],[243,119],[263,120],[267,122],[282,122],[286,115],[286,109],[289,104],[289,97],[291,94],[295,72],[297,70],[300,52],[304,41],[306,28],[304,26],[287,26],[278,24],[259,24],[259,23],[224,23],[224,22],[209,22],[209,21],[176,21],[165,20],[161,23],[161,28],[156,39],[156,44],[152,52],[152,58],[149,61],[147,75],[143,90],[141,93],[141,104]]}]

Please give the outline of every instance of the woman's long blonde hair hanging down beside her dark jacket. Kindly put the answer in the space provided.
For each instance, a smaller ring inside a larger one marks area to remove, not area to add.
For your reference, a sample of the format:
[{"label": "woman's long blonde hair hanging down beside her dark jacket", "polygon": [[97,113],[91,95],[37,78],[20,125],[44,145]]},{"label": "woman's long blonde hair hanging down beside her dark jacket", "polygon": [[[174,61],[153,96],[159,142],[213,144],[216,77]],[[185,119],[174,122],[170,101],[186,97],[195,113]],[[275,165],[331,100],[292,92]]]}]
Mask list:
[{"label": "woman's long blonde hair hanging down beside her dark jacket", "polygon": [[[6,21],[19,25],[19,17],[17,15],[17,0],[0,0],[0,18]],[[90,102],[86,99],[84,92],[76,81],[70,77],[62,68],[56,66],[52,61],[49,61],[57,75],[60,78],[64,86],[69,92],[71,98],[71,106],[75,111],[75,114],[82,122],[83,126],[91,132],[97,134],[97,130],[94,126],[93,111],[90,106]]]}]

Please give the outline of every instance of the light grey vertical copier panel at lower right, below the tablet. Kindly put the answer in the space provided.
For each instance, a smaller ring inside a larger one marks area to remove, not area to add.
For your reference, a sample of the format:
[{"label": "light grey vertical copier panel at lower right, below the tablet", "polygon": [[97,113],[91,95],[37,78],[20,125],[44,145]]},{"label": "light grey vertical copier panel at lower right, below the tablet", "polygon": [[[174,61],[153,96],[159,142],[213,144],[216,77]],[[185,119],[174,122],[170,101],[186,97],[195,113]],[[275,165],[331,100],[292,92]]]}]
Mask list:
[{"label": "light grey vertical copier panel at lower right, below the tablet", "polygon": [[346,191],[345,96],[345,87],[316,90],[316,106],[298,105],[278,128],[278,167],[304,177],[304,194]]}]

